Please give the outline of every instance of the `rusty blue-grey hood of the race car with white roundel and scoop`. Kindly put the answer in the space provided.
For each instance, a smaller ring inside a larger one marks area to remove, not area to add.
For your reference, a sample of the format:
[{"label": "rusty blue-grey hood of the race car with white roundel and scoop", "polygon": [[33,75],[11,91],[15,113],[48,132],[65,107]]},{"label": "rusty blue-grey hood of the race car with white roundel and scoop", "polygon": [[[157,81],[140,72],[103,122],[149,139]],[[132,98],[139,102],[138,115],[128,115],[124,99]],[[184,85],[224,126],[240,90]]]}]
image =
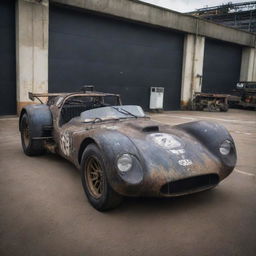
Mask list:
[{"label": "rusty blue-grey hood of the race car with white roundel and scoop", "polygon": [[150,182],[154,181],[152,177],[166,182],[207,173],[221,176],[218,158],[198,139],[178,127],[145,119],[102,126],[125,135],[136,146],[147,170],[145,178]]}]

